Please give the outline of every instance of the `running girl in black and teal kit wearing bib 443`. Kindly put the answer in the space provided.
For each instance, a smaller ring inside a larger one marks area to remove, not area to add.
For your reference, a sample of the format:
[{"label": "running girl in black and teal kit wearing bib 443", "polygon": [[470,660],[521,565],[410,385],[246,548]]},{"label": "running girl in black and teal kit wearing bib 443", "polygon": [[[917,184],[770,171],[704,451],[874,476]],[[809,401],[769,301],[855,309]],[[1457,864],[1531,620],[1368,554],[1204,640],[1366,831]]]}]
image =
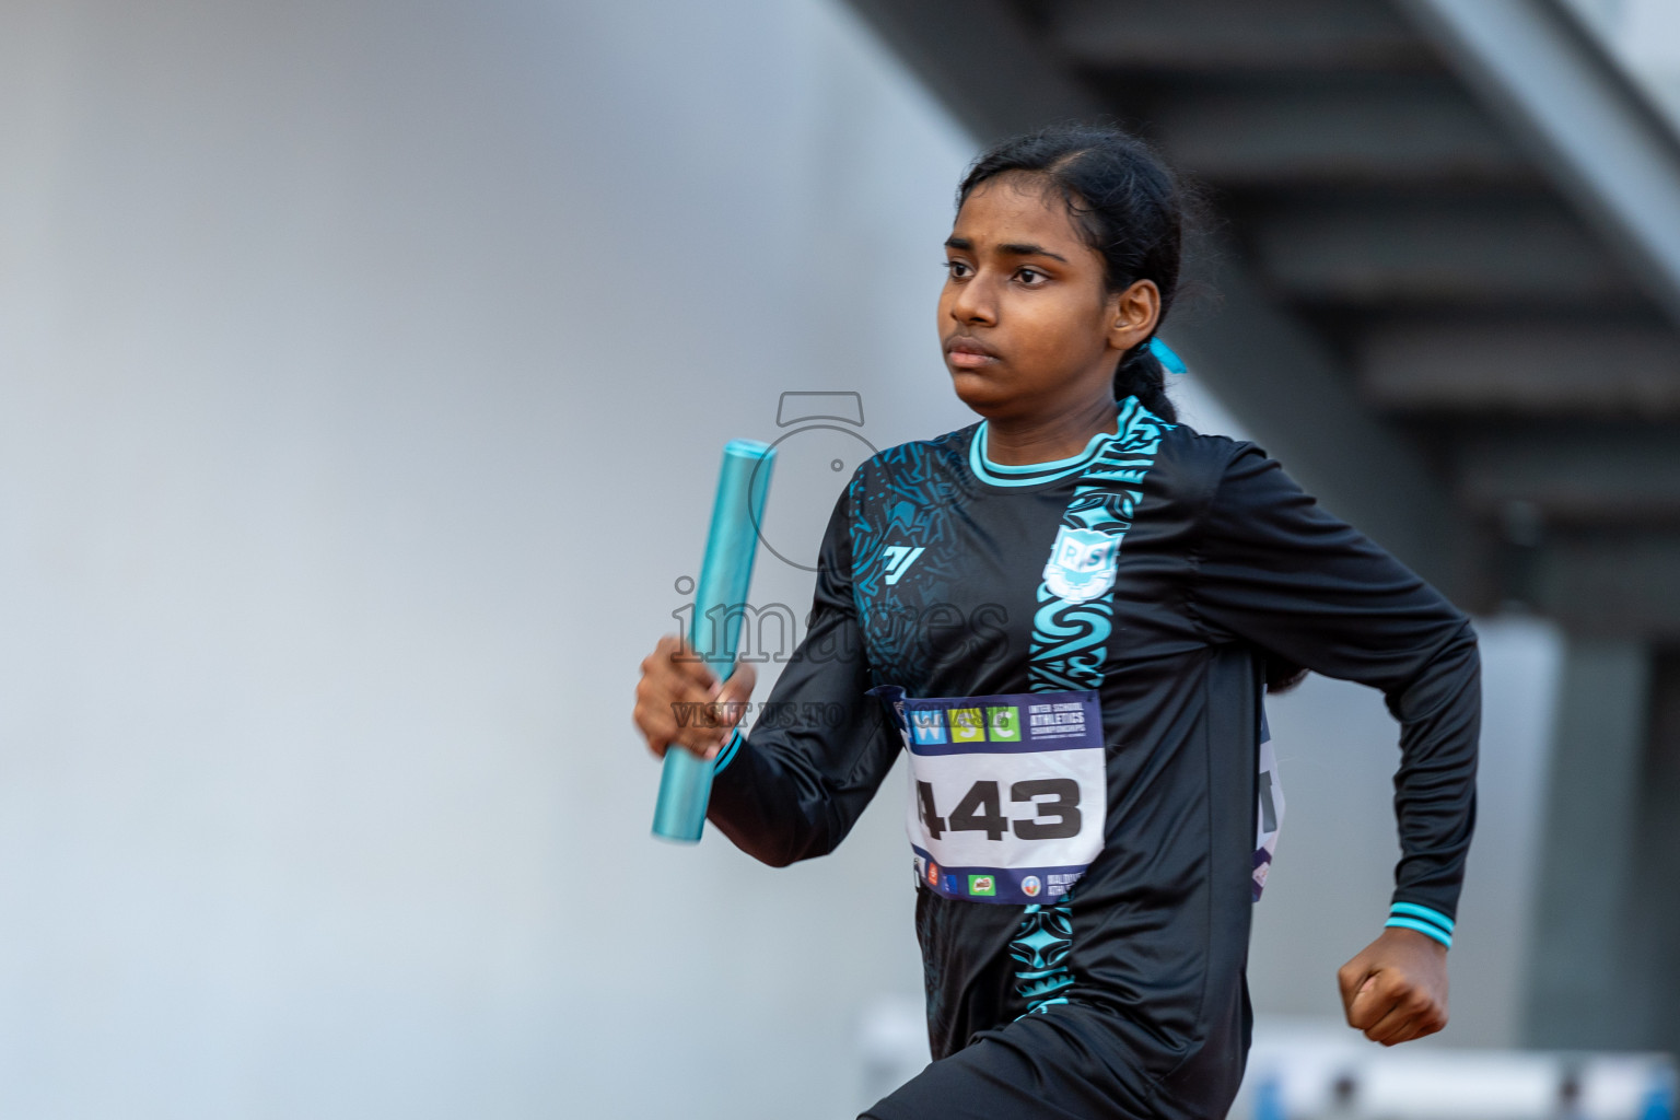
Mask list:
[{"label": "running girl in black and teal kit wearing bib 443", "polygon": [[[675,638],[642,665],[648,746],[717,757],[711,821],[764,863],[832,851],[909,756],[936,1061],[867,1117],[1225,1115],[1255,838],[1275,831],[1262,697],[1295,667],[1381,688],[1401,725],[1403,858],[1339,972],[1347,1021],[1386,1044],[1446,1023],[1475,633],[1265,452],[1176,421],[1154,334],[1183,223],[1179,185],[1124,133],[983,154],[939,297],[983,420],[853,475],[749,735],[724,724],[751,665],[719,683]],[[674,705],[707,702],[717,727],[679,727]]]}]

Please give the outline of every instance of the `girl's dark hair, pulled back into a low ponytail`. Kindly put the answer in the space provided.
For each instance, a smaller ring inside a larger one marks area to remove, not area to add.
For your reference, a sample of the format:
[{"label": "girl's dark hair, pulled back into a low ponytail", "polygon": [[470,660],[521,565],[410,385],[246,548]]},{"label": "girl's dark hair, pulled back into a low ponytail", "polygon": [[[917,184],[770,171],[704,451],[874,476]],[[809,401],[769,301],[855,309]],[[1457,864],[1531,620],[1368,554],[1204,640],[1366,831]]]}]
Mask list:
[{"label": "girl's dark hair, pulled back into a low ponytail", "polygon": [[[1085,243],[1102,255],[1109,290],[1122,292],[1137,280],[1154,280],[1161,289],[1161,319],[1166,319],[1178,294],[1188,198],[1144,141],[1099,124],[1063,124],[1005,139],[974,160],[958,186],[958,208],[976,186],[1010,173],[1043,176]],[[1151,339],[1121,358],[1114,395],[1136,396],[1154,415],[1176,421],[1178,410],[1166,395],[1166,371],[1149,349]]]}]

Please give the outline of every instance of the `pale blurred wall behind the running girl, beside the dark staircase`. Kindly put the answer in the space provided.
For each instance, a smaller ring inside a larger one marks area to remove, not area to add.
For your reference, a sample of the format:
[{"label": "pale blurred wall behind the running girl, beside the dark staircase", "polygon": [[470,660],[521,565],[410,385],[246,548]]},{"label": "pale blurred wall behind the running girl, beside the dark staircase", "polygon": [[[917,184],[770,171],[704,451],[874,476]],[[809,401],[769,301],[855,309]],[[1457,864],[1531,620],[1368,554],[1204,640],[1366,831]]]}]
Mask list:
[{"label": "pale blurred wall behind the running girl, beside the dark staircase", "polygon": [[[630,688],[781,391],[969,420],[969,154],[833,0],[0,5],[0,1115],[864,1103],[895,798],[788,871],[655,845]],[[1378,804],[1317,695],[1280,741]],[[1368,851],[1290,781],[1257,989],[1319,1011],[1386,801]]]}]

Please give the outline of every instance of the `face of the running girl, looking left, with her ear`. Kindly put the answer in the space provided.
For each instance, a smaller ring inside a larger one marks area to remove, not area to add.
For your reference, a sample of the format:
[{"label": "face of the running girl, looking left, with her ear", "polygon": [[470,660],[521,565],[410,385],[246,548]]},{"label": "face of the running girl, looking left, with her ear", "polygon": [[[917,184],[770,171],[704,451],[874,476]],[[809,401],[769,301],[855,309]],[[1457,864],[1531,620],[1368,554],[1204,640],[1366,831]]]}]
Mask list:
[{"label": "face of the running girl, looking left, with her ear", "polygon": [[1102,257],[1037,175],[974,188],[946,240],[946,368],[963,403],[991,420],[1112,401],[1114,366],[1159,314],[1152,280],[1107,290]]}]

